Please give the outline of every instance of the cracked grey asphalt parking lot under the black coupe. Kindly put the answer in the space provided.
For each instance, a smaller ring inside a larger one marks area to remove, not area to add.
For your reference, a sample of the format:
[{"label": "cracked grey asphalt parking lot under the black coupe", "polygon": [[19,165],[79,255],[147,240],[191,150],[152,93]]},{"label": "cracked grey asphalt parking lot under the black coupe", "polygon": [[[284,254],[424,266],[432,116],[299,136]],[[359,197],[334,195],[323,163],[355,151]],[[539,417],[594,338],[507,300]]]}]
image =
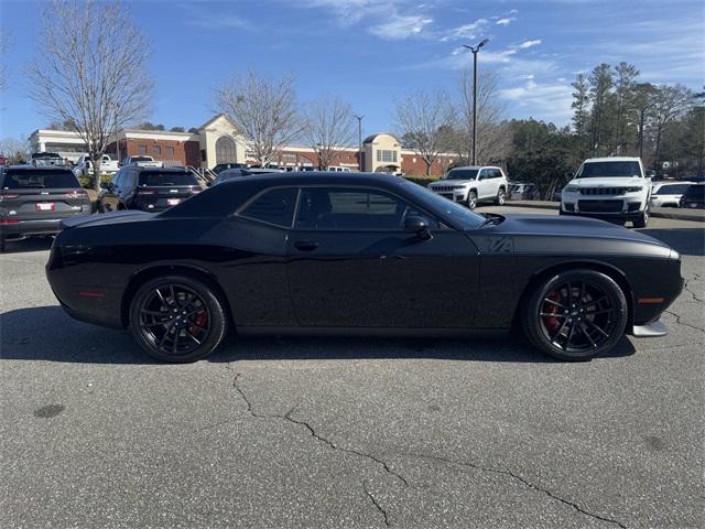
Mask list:
[{"label": "cracked grey asphalt parking lot under the black coupe", "polygon": [[64,314],[47,241],[10,244],[0,526],[703,527],[705,229],[644,231],[683,256],[671,332],[585,364],[359,338],[155,364]]}]

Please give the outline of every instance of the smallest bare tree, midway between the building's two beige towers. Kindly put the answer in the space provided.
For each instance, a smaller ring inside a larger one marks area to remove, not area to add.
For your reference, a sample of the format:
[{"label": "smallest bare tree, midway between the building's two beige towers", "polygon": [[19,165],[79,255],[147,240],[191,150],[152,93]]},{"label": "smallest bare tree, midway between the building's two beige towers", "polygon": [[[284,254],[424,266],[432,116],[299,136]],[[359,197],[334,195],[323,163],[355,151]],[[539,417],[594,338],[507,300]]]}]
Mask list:
[{"label": "smallest bare tree, midway between the building's two beige towers", "polygon": [[352,107],[337,97],[326,96],[308,106],[304,138],[316,151],[318,168],[327,169],[355,141]]}]

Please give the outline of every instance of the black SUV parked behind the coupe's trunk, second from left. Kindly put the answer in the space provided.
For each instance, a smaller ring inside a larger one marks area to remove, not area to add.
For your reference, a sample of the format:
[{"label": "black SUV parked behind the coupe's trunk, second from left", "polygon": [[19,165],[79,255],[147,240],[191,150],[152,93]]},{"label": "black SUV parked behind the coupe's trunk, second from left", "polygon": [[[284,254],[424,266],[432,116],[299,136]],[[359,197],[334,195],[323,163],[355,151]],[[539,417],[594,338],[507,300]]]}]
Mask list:
[{"label": "black SUV parked behind the coupe's trunk, second from left", "polygon": [[141,168],[128,165],[109,184],[101,184],[98,212],[142,209],[161,212],[198,193],[198,179],[184,168]]}]

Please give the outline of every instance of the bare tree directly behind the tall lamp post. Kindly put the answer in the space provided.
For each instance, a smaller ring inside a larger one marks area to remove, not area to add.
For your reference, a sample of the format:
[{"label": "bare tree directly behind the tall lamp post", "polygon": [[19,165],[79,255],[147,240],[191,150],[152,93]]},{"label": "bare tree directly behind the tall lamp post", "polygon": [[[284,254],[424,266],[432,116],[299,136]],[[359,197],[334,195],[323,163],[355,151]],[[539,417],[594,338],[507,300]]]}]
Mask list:
[{"label": "bare tree directly behind the tall lamp post", "polygon": [[[473,73],[463,71],[458,79],[460,101],[458,128],[453,149],[463,163],[473,159]],[[501,122],[503,108],[497,101],[498,78],[492,72],[482,72],[477,78],[477,163],[498,162],[512,149],[512,137],[507,123]]]}]

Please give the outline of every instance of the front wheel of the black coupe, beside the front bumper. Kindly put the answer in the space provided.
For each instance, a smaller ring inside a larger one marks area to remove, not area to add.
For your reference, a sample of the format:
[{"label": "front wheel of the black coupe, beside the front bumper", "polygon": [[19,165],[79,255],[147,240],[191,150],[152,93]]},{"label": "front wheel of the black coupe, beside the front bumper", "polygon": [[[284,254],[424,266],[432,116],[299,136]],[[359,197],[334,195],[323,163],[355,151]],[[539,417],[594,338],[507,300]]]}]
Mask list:
[{"label": "front wheel of the black coupe, beside the front bumper", "polygon": [[627,326],[627,299],[609,276],[570,270],[539,284],[522,309],[531,344],[562,360],[589,360],[611,349]]}]

